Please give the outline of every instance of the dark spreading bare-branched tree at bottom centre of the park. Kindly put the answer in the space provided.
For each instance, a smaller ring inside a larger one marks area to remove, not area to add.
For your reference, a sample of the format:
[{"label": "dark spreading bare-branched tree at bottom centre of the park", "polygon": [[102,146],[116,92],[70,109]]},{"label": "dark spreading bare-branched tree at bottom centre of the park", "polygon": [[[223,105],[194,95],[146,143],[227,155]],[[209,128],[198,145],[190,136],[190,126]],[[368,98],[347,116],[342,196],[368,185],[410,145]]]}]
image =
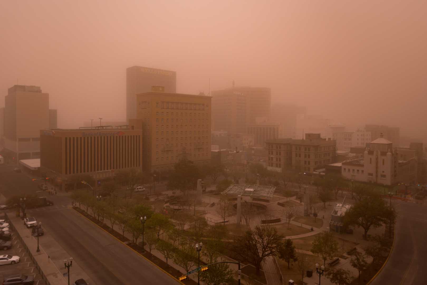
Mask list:
[{"label": "dark spreading bare-branched tree at bottom centre of the park", "polygon": [[256,274],[260,274],[261,262],[268,256],[276,256],[282,247],[284,235],[279,235],[272,226],[256,226],[237,238],[234,252],[255,266]]}]

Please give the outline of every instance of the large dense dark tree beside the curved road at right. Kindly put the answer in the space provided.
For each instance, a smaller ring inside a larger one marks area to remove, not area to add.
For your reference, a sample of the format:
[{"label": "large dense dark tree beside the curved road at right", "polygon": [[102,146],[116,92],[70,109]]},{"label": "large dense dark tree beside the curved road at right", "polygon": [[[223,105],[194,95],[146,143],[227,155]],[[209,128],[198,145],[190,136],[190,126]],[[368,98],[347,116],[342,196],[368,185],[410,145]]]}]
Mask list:
[{"label": "large dense dark tree beside the curved road at right", "polygon": [[375,195],[363,198],[352,206],[344,215],[345,225],[361,226],[365,230],[363,237],[367,239],[371,227],[383,224],[387,207],[384,200]]}]

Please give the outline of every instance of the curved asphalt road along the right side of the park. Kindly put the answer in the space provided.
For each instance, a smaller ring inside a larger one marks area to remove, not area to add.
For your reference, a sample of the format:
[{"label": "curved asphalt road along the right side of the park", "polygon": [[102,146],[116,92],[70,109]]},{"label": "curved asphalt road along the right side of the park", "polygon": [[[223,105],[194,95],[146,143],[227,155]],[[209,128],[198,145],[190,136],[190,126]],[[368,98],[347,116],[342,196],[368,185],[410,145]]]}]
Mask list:
[{"label": "curved asphalt road along the right side of the park", "polygon": [[393,252],[371,285],[427,284],[427,207],[397,202],[398,220]]}]

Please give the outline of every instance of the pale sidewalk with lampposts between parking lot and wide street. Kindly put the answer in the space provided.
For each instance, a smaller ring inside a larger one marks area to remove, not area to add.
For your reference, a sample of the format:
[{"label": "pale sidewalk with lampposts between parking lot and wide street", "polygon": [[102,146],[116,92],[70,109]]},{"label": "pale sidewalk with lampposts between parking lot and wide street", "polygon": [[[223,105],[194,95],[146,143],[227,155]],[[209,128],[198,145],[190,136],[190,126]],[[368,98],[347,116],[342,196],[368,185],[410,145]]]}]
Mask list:
[{"label": "pale sidewalk with lampposts between parking lot and wide street", "polygon": [[[16,217],[15,212],[8,212],[8,217],[9,223],[13,224],[16,231],[21,236],[23,242],[34,256],[35,261],[37,261],[40,269],[49,280],[50,285],[67,285],[68,279],[63,276],[63,274],[67,272],[64,268],[64,259],[68,259],[70,257],[69,254],[59,246],[48,232],[45,232],[45,234],[39,238],[40,252],[37,253],[37,238],[32,236],[30,230],[24,226],[21,218]],[[75,279],[79,278],[83,278],[88,282],[90,280],[82,268],[79,267],[79,264],[73,261],[70,282],[74,282]],[[91,280],[90,284],[96,285]]]}]

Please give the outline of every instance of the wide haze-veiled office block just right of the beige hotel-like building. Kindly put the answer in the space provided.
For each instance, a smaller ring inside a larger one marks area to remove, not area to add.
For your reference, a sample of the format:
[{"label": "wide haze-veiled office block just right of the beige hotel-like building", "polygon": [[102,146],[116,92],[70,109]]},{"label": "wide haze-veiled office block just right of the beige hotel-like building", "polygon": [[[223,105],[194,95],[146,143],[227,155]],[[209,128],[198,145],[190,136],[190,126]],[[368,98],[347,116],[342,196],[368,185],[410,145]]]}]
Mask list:
[{"label": "wide haze-veiled office block just right of the beige hotel-like building", "polygon": [[212,91],[213,129],[228,133],[246,133],[257,118],[270,120],[271,89],[232,87]]}]

